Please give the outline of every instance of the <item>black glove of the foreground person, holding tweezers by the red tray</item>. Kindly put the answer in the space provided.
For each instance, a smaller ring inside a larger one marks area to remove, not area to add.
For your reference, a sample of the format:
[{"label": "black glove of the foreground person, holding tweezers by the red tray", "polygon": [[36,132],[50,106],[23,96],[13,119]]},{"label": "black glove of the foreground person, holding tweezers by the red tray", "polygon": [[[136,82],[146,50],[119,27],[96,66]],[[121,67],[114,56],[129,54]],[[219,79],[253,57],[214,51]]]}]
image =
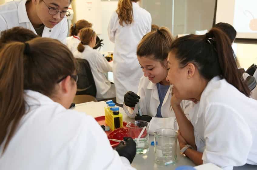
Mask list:
[{"label": "black glove of the foreground person, holding tweezers by the red tray", "polygon": [[124,137],[123,140],[126,142],[126,144],[121,141],[120,144],[117,146],[116,151],[119,153],[120,156],[124,156],[125,158],[127,158],[131,164],[136,156],[137,144],[130,137]]}]

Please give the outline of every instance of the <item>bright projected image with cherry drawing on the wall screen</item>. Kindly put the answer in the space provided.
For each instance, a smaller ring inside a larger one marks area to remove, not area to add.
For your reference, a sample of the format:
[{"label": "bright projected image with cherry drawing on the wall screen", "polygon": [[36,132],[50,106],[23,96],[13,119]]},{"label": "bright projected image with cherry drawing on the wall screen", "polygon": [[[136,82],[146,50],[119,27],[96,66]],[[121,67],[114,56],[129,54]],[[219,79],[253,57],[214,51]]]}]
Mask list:
[{"label": "bright projected image with cherry drawing on the wall screen", "polygon": [[257,32],[257,0],[235,0],[234,23],[237,32]]}]

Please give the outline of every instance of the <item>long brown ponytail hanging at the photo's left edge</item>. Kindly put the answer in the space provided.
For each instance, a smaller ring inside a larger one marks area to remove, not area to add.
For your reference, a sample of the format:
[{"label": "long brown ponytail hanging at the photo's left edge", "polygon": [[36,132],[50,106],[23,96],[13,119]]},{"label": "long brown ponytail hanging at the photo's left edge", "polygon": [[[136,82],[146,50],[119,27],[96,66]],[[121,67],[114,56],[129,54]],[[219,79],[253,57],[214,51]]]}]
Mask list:
[{"label": "long brown ponytail hanging at the photo's left edge", "polygon": [[[25,114],[24,57],[25,44],[7,44],[0,53],[0,144],[5,137],[3,152],[10,142],[19,121]],[[11,125],[11,126],[10,126]]]}]

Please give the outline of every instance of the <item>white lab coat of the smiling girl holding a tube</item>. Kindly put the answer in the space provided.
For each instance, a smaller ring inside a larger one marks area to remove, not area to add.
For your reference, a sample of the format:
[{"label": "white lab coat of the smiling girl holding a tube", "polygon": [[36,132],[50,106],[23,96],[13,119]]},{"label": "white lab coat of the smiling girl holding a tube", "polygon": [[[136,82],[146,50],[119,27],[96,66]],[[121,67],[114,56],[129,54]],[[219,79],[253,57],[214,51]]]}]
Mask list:
[{"label": "white lab coat of the smiling girl holding a tube", "polygon": [[[170,89],[167,91],[161,106],[162,118],[155,117],[157,114],[157,108],[160,105],[158,89],[155,83],[148,80],[148,77],[141,77],[137,94],[140,96],[139,104],[142,114],[153,117],[149,125],[150,134],[153,134],[153,132],[159,128],[179,129],[174,110],[171,107]],[[192,101],[182,100],[181,108],[188,118],[189,110],[192,107]],[[129,117],[135,117],[138,113],[138,104],[136,104],[134,110],[123,104],[123,109]]]}]

